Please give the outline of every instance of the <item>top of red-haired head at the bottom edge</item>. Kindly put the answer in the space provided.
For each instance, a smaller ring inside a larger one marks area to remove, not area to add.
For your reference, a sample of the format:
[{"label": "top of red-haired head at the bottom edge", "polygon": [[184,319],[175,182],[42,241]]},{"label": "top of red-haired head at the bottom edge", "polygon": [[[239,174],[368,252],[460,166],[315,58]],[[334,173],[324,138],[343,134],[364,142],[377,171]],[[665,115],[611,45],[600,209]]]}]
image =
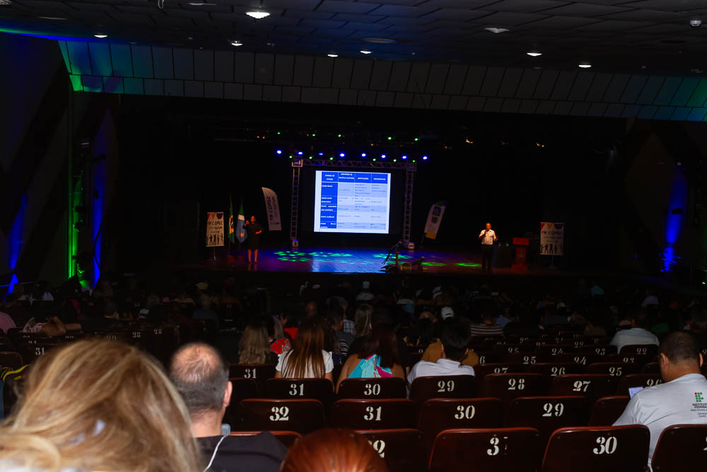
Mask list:
[{"label": "top of red-haired head at the bottom edge", "polygon": [[293,444],[281,472],[386,472],[385,461],[361,434],[322,429]]}]

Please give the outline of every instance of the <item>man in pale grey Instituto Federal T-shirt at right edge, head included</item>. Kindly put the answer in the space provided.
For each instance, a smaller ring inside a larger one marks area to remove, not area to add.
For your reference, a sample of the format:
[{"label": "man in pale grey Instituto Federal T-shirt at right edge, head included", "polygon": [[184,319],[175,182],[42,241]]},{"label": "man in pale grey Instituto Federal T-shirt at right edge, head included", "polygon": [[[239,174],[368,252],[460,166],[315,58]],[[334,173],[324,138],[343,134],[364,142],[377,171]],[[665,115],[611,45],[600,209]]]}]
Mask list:
[{"label": "man in pale grey Instituto Federal T-shirt at right edge, head included", "polygon": [[643,388],[631,398],[614,426],[645,425],[650,430],[648,466],[660,433],[672,425],[707,425],[707,379],[702,355],[690,333],[677,331],[660,343],[658,365],[665,384]]}]

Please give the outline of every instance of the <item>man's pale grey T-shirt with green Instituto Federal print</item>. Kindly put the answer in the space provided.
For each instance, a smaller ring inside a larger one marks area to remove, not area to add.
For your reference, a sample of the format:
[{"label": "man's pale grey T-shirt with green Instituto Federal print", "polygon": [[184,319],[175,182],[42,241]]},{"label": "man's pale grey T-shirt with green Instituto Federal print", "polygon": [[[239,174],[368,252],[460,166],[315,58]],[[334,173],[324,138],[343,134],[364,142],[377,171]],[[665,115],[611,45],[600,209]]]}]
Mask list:
[{"label": "man's pale grey T-shirt with green Instituto Federal print", "polygon": [[614,426],[645,425],[650,430],[648,466],[660,433],[672,425],[707,425],[707,379],[688,374],[636,393]]}]

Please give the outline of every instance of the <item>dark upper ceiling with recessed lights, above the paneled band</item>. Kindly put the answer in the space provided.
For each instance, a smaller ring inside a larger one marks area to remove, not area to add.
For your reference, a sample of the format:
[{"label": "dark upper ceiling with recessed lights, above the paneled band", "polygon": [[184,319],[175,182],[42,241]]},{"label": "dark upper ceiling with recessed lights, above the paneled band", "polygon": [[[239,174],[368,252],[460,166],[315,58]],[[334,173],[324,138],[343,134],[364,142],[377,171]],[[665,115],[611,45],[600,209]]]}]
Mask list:
[{"label": "dark upper ceiling with recessed lights, above the paneled band", "polygon": [[[217,50],[240,40],[243,51],[370,50],[371,59],[500,67],[566,70],[587,61],[612,72],[707,71],[707,24],[689,24],[707,23],[707,0],[163,0],[163,8],[158,0],[9,1],[0,6],[0,30],[41,35],[105,33],[106,41]],[[245,15],[261,3],[270,16]]]}]

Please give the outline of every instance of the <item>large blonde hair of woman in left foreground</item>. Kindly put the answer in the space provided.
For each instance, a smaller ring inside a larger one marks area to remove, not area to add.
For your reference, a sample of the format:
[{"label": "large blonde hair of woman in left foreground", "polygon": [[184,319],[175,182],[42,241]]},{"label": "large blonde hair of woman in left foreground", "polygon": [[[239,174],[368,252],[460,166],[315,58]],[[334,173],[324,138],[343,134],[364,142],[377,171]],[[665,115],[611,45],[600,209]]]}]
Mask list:
[{"label": "large blonde hair of woman in left foreground", "polygon": [[37,359],[0,426],[0,462],[31,470],[195,472],[200,461],[162,368],[115,341],[80,340]]}]

